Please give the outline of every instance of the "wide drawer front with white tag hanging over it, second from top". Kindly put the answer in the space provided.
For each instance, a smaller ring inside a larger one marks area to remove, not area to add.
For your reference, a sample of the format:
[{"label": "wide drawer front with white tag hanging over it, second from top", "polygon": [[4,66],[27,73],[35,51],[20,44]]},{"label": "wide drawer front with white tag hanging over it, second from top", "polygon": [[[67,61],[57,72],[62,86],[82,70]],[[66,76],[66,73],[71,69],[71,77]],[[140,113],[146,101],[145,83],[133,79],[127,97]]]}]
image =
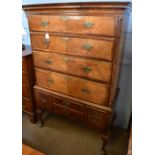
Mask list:
[{"label": "wide drawer front with white tag hanging over it, second from top", "polygon": [[112,61],[114,40],[97,40],[74,37],[60,37],[45,34],[31,34],[33,50],[53,51],[74,56]]}]

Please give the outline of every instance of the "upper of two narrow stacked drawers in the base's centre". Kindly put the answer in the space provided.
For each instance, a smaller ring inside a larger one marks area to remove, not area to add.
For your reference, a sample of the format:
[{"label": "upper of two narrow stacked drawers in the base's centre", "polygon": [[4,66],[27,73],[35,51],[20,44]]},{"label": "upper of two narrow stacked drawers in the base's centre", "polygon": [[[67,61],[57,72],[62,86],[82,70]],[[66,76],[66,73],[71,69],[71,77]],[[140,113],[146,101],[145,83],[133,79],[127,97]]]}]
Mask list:
[{"label": "upper of two narrow stacked drawers in the base's centre", "polygon": [[71,110],[83,112],[83,106],[82,105],[79,105],[75,102],[71,102],[68,100],[64,100],[60,97],[53,96],[53,104],[58,104],[58,105],[63,106],[64,108],[69,108]]}]

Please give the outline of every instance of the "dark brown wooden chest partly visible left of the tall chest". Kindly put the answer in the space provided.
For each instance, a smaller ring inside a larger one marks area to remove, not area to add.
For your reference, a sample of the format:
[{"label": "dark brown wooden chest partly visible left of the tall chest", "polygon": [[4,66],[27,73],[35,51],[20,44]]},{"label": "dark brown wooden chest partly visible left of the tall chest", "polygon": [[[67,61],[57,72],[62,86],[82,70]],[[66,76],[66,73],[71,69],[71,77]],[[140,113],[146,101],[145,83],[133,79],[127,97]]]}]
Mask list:
[{"label": "dark brown wooden chest partly visible left of the tall chest", "polygon": [[32,50],[27,48],[22,51],[22,109],[30,115],[31,122],[36,122],[36,105],[33,86],[35,75],[32,59]]}]

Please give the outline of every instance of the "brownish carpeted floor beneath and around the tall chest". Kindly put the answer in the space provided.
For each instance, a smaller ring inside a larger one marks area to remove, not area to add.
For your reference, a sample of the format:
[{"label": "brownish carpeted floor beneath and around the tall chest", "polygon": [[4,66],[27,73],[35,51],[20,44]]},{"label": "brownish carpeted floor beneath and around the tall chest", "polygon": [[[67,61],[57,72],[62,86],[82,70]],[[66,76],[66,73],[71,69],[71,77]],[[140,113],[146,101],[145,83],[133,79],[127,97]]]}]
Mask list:
[{"label": "brownish carpeted floor beneath and around the tall chest", "polygon": [[[102,139],[96,131],[47,113],[45,124],[32,124],[23,113],[23,143],[46,155],[101,155]],[[129,134],[113,127],[106,147],[108,155],[126,155]]]}]

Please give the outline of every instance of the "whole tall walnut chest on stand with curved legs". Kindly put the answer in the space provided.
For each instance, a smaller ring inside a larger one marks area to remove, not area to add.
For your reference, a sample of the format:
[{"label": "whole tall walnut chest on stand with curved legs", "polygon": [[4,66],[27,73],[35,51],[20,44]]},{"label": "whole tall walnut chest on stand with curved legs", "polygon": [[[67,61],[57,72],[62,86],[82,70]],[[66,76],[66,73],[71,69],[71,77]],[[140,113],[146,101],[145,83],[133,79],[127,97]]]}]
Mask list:
[{"label": "whole tall walnut chest on stand with curved legs", "polygon": [[103,134],[104,150],[117,96],[128,5],[23,6],[33,50],[40,125],[42,110],[82,122]]}]

